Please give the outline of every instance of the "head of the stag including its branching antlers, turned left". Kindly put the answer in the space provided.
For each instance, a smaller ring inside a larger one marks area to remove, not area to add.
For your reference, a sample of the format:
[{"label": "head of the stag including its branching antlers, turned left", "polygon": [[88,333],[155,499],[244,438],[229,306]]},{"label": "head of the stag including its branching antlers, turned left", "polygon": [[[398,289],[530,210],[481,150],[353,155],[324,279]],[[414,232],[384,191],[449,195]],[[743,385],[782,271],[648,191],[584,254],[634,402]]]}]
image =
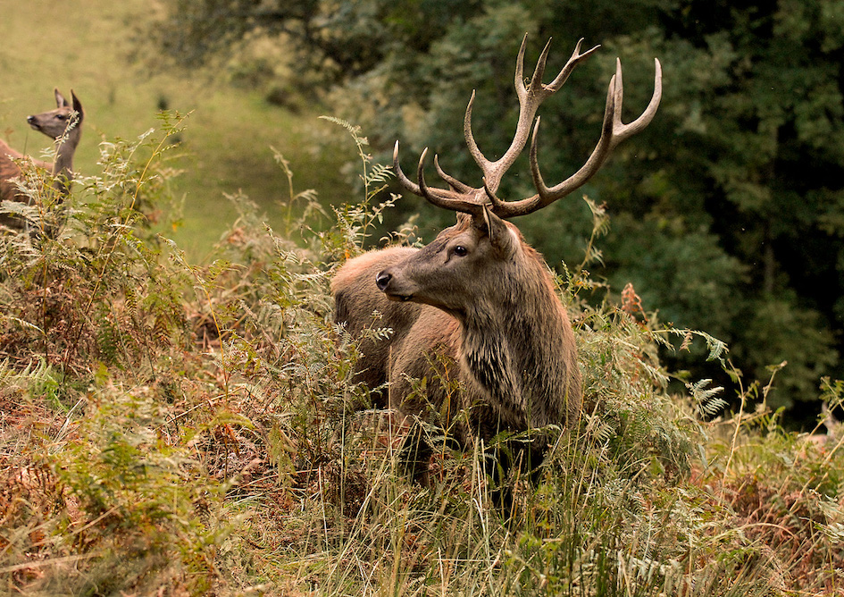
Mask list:
[{"label": "head of the stag including its branching antlers, turned left", "polygon": [[[458,181],[439,166],[434,157],[439,176],[447,182],[448,189],[429,187],[425,182],[424,165],[428,150],[422,151],[417,168],[417,181],[405,176],[398,163],[398,142],[393,152],[393,163],[398,181],[410,192],[426,198],[435,206],[453,210],[458,214],[455,226],[439,233],[436,240],[403,262],[392,265],[376,276],[378,288],[388,298],[412,300],[439,307],[457,319],[465,320],[466,314],[477,309],[488,313],[502,312],[502,302],[513,297],[512,288],[531,285],[543,279],[537,268],[547,267],[541,257],[523,240],[522,234],[507,218],[531,214],[581,187],[598,171],[614,147],[631,135],[648,126],[656,114],[662,96],[662,73],[656,61],[654,95],[645,112],[635,121],[624,124],[621,120],[623,104],[622,66],[616,60],[615,74],[606,94],[606,110],[601,137],[586,164],[567,180],[547,187],[539,172],[537,136],[539,118],[533,123],[539,105],[561,88],[575,66],[597,50],[598,46],[581,53],[581,41],[574,48],[563,70],[547,85],[542,82],[550,42],[539,55],[531,81],[525,85],[522,77],[524,48],[527,36],[516,60],[515,89],[519,97],[519,121],[514,139],[505,154],[497,161],[489,160],[480,152],[472,135],[472,104],[469,100],[464,120],[466,145],[483,172],[483,185],[473,188]],[[517,156],[522,153],[531,130],[531,172],[537,193],[517,201],[504,201],[497,197],[501,180]],[[497,271],[500,270],[500,271]],[[480,282],[486,281],[486,282]],[[514,306],[515,307],[515,306]],[[523,310],[523,309],[522,309]],[[503,310],[506,312],[506,309]]]}]

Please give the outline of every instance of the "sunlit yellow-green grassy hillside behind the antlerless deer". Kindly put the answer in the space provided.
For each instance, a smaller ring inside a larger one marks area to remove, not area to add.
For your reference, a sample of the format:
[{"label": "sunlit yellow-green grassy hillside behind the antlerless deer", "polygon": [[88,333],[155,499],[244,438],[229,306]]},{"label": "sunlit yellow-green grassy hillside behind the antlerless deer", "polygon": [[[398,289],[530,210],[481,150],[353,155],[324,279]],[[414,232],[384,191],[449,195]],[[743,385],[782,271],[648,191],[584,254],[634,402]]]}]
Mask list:
[{"label": "sunlit yellow-green grassy hillside behind the antlerless deer", "polygon": [[86,111],[75,166],[93,173],[100,141],[131,139],[156,126],[162,102],[190,113],[184,157],[176,163],[184,172],[173,182],[185,199],[184,225],[167,234],[197,259],[236,215],[224,193],[242,191],[277,222],[288,183],[271,146],[291,162],[298,188],[317,189],[325,200],[348,196],[338,164],[354,154],[338,154],[326,142],[336,138],[336,127],[318,120],[322,113],[289,114],[209,72],[151,73],[130,63],[138,22],[155,5],[71,0],[57,10],[46,0],[0,3],[0,137],[29,153],[49,147],[26,116],[54,107],[54,87],[65,95],[73,88]]}]

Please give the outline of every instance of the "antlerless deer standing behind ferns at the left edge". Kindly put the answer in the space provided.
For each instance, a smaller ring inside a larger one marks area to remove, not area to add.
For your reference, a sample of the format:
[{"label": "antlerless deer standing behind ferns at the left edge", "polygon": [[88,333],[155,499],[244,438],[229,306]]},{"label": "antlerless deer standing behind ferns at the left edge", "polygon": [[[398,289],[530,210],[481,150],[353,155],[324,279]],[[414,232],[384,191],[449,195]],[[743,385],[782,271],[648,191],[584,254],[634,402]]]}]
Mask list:
[{"label": "antlerless deer standing behind ferns at the left edge", "polygon": [[[18,189],[14,181],[21,177],[20,164],[25,161],[53,174],[54,189],[59,194],[59,201],[67,195],[68,184],[73,177],[73,154],[82,135],[81,125],[84,113],[82,112],[82,104],[72,89],[72,105],[59,93],[58,89],[54,89],[54,94],[55,110],[27,117],[29,126],[43,132],[47,137],[57,142],[54,163],[49,164],[24,156],[9,147],[3,140],[0,140],[0,200],[2,201],[29,203],[29,197]],[[0,214],[0,224],[15,229],[22,229],[26,225],[20,218],[11,214]],[[52,235],[55,230],[51,229],[47,232]]]}]

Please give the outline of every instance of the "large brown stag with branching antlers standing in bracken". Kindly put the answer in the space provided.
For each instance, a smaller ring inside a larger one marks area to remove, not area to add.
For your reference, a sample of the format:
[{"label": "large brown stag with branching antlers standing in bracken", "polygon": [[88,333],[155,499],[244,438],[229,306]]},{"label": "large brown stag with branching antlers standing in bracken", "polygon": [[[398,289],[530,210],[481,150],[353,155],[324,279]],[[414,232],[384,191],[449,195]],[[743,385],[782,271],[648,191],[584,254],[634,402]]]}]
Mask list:
[{"label": "large brown stag with branching antlers standing in bracken", "polygon": [[[597,49],[581,53],[578,42],[563,70],[546,85],[542,76],[548,42],[525,86],[522,68],[526,39],[522,40],[515,69],[519,121],[510,147],[497,161],[484,156],[472,136],[474,93],[466,109],[466,144],[483,172],[479,188],[443,172],[437,157],[437,172],[449,188],[429,187],[423,172],[427,149],[419,160],[418,182],[411,181],[398,164],[396,143],[393,160],[398,181],[433,205],[457,212],[456,225],[441,231],[422,249],[392,247],[355,257],[338,270],[332,284],[336,319],[347,325],[349,333],[360,337],[372,327],[393,330],[385,341],[361,340],[357,380],[373,389],[387,383],[389,408],[405,416],[423,416],[431,406],[440,414],[447,412],[445,423],[454,425],[455,438],[464,446],[471,445],[473,438],[489,441],[502,430],[518,433],[547,425],[571,425],[579,416],[581,375],[565,307],[542,256],[506,220],[531,214],[581,187],[615,146],[651,122],[662,96],[657,60],[655,89],[648,107],[637,120],[623,124],[622,68],[616,61],[601,137],[586,163],[568,180],[547,187],[537,160],[537,118],[530,151],[537,194],[505,201],[497,196],[498,186],[522,152],[539,105]],[[375,311],[380,319],[373,318]],[[432,355],[438,352],[451,357],[455,364],[445,377],[443,372],[432,374],[432,366],[437,366]],[[412,387],[411,380],[421,378],[428,379],[425,396],[419,396]],[[456,379],[464,385],[459,403],[448,401],[447,384],[438,383],[438,379]],[[414,447],[421,447],[422,456],[411,463],[416,475],[427,467],[430,453],[418,433]],[[531,447],[528,458],[538,464],[544,451],[540,446]],[[499,464],[505,470],[510,466],[506,458]],[[496,476],[497,470],[494,467],[490,472]]]}]

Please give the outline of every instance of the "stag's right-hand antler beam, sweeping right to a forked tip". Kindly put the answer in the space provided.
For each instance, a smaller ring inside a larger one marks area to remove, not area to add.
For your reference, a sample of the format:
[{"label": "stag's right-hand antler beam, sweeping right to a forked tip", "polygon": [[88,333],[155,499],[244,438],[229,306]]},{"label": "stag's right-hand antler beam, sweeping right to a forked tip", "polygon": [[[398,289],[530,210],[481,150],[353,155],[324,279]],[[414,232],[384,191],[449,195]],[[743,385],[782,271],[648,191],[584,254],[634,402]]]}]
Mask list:
[{"label": "stag's right-hand antler beam, sweeping right to a forked tip", "polygon": [[538,193],[531,198],[504,203],[496,211],[496,214],[504,217],[532,214],[533,212],[554,203],[557,199],[563,198],[573,190],[580,188],[586,181],[600,169],[610,156],[613,149],[624,139],[631,137],[644,129],[653,120],[656,109],[659,107],[662,98],[662,67],[659,60],[656,60],[656,75],[654,78],[654,94],[651,96],[648,107],[635,121],[624,124],[622,122],[623,105],[623,81],[622,63],[615,61],[615,74],[610,80],[606,90],[606,108],[604,111],[604,122],[601,126],[601,137],[597,141],[595,149],[592,150],[586,164],[583,164],[577,172],[572,174],[565,181],[548,188],[542,180],[539,172],[539,160],[537,159],[537,137],[539,135],[539,118],[533,127],[531,139],[531,174],[533,184]]}]

